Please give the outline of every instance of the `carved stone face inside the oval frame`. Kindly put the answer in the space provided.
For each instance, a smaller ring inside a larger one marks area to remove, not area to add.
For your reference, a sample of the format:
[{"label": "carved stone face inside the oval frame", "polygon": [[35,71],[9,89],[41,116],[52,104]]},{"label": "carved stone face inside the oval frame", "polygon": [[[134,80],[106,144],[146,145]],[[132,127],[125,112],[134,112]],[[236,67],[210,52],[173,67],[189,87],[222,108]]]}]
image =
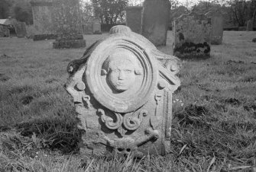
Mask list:
[{"label": "carved stone face inside the oval frame", "polygon": [[138,59],[128,50],[112,53],[106,63],[107,78],[115,91],[127,91],[134,85],[136,75],[141,74]]}]

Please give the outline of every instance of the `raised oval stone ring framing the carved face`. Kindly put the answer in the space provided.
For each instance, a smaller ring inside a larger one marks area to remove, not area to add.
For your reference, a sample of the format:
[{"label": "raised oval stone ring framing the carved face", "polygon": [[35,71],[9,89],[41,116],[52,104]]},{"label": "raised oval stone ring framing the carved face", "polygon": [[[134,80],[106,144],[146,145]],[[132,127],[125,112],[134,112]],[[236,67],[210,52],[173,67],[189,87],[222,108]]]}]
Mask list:
[{"label": "raised oval stone ring framing the carved face", "polygon": [[[120,98],[116,97],[115,94],[110,94],[102,84],[102,64],[107,58],[106,55],[115,48],[131,50],[138,57],[144,70],[141,88],[129,98]],[[128,113],[147,103],[151,93],[156,88],[158,75],[157,62],[151,54],[148,54],[150,51],[145,50],[147,48],[149,47],[142,40],[122,34],[112,35],[96,46],[87,61],[86,84],[99,104],[117,113]]]}]

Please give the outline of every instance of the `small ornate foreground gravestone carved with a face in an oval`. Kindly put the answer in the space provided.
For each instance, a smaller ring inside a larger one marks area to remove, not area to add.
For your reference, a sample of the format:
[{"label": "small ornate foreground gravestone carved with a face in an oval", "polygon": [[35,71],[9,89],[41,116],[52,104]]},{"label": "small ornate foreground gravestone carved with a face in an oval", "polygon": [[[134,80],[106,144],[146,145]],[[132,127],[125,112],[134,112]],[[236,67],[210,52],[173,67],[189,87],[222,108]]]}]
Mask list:
[{"label": "small ornate foreground gravestone carved with a face in an oval", "polygon": [[83,155],[166,154],[178,59],[116,26],[67,67]]}]

